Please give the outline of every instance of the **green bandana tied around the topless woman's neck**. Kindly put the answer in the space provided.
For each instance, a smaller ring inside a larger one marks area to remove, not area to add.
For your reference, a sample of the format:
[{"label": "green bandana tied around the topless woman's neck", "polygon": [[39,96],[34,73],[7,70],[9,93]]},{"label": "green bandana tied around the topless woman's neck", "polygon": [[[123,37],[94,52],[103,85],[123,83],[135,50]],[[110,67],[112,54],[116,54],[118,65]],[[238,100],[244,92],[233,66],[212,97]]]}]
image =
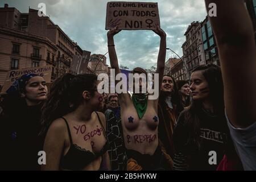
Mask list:
[{"label": "green bandana tied around the topless woman's neck", "polygon": [[136,96],[133,94],[133,96],[131,96],[131,99],[133,100],[133,105],[137,110],[139,119],[141,119],[147,110],[147,94],[143,94],[140,96]]}]

